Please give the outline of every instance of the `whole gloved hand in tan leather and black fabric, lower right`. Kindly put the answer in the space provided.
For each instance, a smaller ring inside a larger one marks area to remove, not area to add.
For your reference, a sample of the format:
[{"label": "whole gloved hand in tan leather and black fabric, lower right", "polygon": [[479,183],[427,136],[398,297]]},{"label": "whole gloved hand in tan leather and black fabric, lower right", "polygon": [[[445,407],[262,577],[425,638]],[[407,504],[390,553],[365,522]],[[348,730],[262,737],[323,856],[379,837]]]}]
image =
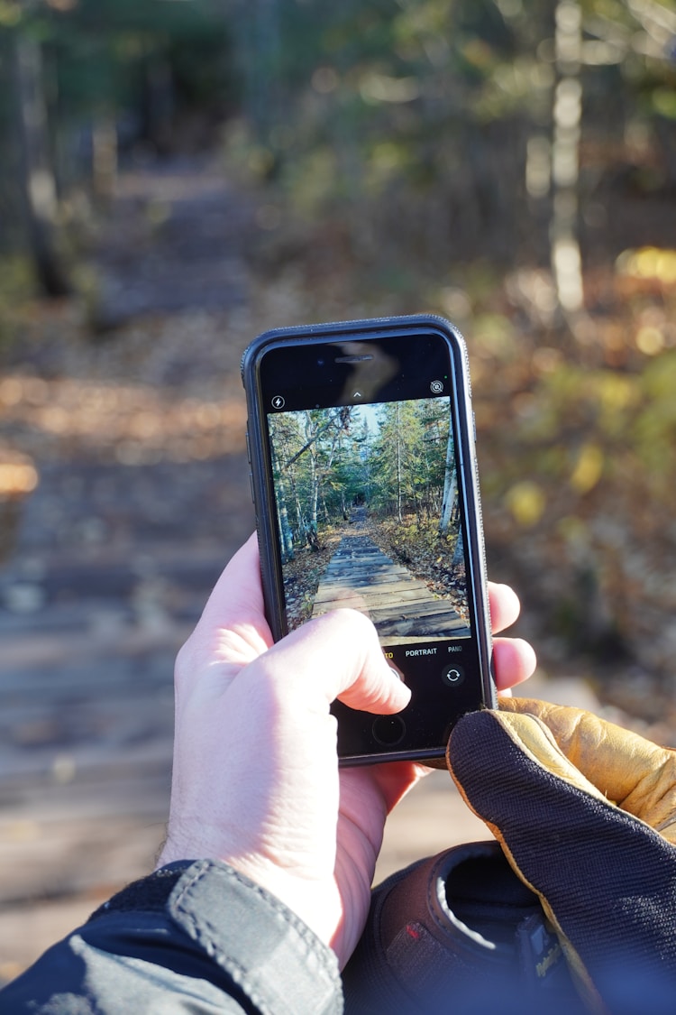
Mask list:
[{"label": "whole gloved hand in tan leather and black fabric, lower right", "polygon": [[451,773],[540,896],[593,1011],[671,1012],[676,752],[580,708],[464,716]]}]

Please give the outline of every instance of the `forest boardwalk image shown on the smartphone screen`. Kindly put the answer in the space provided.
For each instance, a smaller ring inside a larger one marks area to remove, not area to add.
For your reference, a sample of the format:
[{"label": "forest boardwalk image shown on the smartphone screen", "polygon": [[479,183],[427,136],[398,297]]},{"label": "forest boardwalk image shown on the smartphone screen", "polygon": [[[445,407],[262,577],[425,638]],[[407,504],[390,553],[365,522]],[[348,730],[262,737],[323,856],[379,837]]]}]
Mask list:
[{"label": "forest boardwalk image shown on the smartphone screen", "polygon": [[289,628],[350,606],[383,645],[468,637],[449,398],[268,420]]}]

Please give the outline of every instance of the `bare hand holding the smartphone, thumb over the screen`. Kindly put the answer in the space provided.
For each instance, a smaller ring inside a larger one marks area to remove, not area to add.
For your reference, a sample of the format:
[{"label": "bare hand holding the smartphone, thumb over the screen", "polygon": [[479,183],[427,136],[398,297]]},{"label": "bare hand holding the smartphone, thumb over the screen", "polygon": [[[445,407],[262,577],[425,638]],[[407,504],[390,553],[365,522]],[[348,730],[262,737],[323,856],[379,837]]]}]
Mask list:
[{"label": "bare hand holding the smartphone, thumb over the screen", "polygon": [[[491,597],[496,629],[518,600]],[[497,639],[501,688],[534,667],[526,642]],[[347,961],[361,934],[385,817],[426,772],[388,763],[339,773],[329,704],[398,712],[407,688],[375,628],[334,610],[277,645],[264,617],[252,537],[217,584],[175,673],[167,840],[158,866],[220,859],[276,894]]]}]

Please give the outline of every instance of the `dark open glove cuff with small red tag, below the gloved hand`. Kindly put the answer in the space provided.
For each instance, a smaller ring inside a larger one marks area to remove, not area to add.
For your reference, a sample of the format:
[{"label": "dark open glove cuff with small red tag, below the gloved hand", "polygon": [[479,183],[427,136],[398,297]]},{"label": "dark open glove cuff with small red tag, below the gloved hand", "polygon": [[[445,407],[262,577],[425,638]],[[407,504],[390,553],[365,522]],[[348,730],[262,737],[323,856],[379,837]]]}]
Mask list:
[{"label": "dark open glove cuff with small red tag, below the gloved hand", "polygon": [[445,851],[377,887],[344,989],[346,1015],[584,1010],[537,896],[492,841]]}]

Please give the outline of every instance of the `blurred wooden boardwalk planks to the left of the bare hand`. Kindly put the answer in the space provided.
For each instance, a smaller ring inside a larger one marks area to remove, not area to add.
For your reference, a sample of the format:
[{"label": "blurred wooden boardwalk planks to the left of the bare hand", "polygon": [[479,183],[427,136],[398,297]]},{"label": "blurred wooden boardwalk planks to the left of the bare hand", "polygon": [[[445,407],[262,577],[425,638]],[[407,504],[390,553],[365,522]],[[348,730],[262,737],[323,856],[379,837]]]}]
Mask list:
[{"label": "blurred wooden boardwalk planks to the left of the bare hand", "polygon": [[0,567],[0,983],[152,869],[175,653],[252,524],[244,454],[42,470]]}]

